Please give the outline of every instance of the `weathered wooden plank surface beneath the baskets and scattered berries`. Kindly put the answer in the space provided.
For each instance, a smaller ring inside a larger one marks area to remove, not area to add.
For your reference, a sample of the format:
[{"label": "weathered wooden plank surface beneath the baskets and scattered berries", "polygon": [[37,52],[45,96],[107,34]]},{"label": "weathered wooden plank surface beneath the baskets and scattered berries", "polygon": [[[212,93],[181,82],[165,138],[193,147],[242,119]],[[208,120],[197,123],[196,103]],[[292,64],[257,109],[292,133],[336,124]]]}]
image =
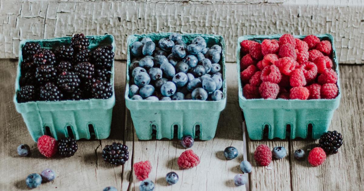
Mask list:
[{"label": "weathered wooden plank surface beneath the baskets and scattered berries", "polygon": [[[242,130],[236,66],[227,63],[227,105],[221,113],[215,138],[196,140],[192,149],[201,158],[201,163],[189,170],[179,170],[177,158],[185,149],[178,140],[139,141],[135,135],[123,98],[125,61],[115,62],[116,105],[110,137],[80,140],[75,156],[50,159],[37,151],[36,143],[12,102],[17,60],[3,59],[0,63],[0,190],[28,190],[25,186],[27,175],[40,173],[45,168],[53,169],[57,177],[34,190],[102,190],[106,186],[139,190],[140,181],[132,172],[132,164],[141,160],[150,160],[153,166],[149,178],[155,182],[156,191],[245,190],[247,186],[236,187],[232,180],[234,175],[241,173],[239,163],[244,158],[243,153],[253,165],[249,190],[363,190],[364,65],[340,65],[343,96],[330,130],[343,134],[344,145],[338,154],[328,156],[323,165],[310,167],[307,161],[295,160],[293,152],[298,148],[313,148],[317,140],[249,140]],[[129,147],[130,159],[124,166],[113,167],[103,162],[102,148],[112,142],[122,142]],[[19,144],[28,144],[31,156],[18,156],[16,147]],[[273,160],[271,169],[259,167],[253,159],[259,144],[267,144],[270,148],[284,146],[288,156]],[[236,159],[225,160],[223,150],[227,146],[238,148],[240,154]],[[178,183],[173,186],[167,186],[165,181],[169,171],[179,175]]]}]

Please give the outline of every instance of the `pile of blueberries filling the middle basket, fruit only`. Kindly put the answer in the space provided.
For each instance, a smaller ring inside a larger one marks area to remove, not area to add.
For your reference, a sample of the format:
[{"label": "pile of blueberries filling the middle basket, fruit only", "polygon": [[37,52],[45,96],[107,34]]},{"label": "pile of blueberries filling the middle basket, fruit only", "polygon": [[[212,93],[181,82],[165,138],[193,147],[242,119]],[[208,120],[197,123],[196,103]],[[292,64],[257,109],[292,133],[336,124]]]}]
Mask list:
[{"label": "pile of blueberries filling the middle basket, fruit only", "polygon": [[201,36],[190,44],[182,35],[153,42],[149,37],[130,47],[129,98],[132,100],[221,100],[222,48],[206,47]]}]

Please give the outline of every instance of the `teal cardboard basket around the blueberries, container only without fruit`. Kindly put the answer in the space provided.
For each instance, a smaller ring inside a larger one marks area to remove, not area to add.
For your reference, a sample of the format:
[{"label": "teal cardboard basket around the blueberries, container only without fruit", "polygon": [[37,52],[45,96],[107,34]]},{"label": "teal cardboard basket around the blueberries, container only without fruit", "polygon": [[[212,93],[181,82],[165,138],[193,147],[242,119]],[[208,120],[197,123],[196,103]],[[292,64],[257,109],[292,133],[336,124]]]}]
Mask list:
[{"label": "teal cardboard basket around the blueberries, container only without fruit", "polygon": [[[226,67],[225,67],[225,41],[219,35],[205,34],[181,34],[183,41],[190,42],[197,36],[206,40],[207,47],[214,44],[222,46],[222,75],[223,75],[223,98],[219,101],[201,100],[173,100],[173,101],[150,101],[131,100],[129,94],[129,65],[131,63],[130,47],[135,41],[143,37],[150,37],[158,44],[159,39],[169,37],[171,33],[150,33],[144,35],[131,35],[128,37],[128,58],[126,69],[126,106],[130,110],[138,139],[150,140],[152,133],[157,139],[173,139],[177,134],[178,139],[191,135],[201,140],[214,138],[220,112],[226,105]],[[177,133],[175,132],[177,131]]]}]

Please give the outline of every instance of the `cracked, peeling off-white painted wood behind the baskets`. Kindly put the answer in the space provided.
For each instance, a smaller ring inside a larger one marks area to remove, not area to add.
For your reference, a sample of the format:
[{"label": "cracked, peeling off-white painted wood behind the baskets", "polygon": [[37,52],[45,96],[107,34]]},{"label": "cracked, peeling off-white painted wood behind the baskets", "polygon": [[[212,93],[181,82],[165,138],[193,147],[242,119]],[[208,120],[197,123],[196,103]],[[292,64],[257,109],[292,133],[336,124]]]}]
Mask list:
[{"label": "cracked, peeling off-white painted wood behind the baskets", "polygon": [[0,0],[0,58],[15,58],[19,41],[112,34],[115,59],[126,39],[151,32],[223,35],[226,60],[236,60],[238,36],[331,33],[340,63],[364,63],[361,0]]}]

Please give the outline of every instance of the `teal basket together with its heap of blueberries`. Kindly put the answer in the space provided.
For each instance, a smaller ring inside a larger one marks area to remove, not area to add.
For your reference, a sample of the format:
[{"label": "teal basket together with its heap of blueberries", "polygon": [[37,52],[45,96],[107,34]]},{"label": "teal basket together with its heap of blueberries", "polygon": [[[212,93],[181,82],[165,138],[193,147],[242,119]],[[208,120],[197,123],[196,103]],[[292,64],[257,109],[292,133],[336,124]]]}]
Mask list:
[{"label": "teal basket together with its heap of blueberries", "polygon": [[226,105],[222,36],[130,36],[125,100],[139,139],[212,139]]}]

